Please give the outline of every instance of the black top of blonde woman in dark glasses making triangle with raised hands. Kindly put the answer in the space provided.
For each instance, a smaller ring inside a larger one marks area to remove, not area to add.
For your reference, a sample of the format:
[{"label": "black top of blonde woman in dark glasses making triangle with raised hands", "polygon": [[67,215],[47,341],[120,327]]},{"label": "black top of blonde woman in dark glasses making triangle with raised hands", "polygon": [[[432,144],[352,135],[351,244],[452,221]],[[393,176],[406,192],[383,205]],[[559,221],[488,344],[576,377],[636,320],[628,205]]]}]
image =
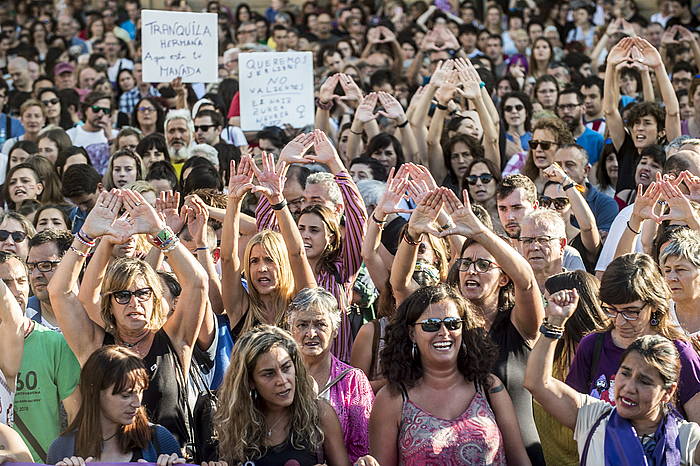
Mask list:
[{"label": "black top of blonde woman in dark glasses making triangle with raised hands", "polygon": [[[103,345],[114,344],[114,336],[105,333]],[[187,442],[187,392],[182,387],[182,369],[177,352],[165,330],[156,332],[143,363],[150,377],[148,389],[143,393],[148,419],[168,429],[183,446]]]}]

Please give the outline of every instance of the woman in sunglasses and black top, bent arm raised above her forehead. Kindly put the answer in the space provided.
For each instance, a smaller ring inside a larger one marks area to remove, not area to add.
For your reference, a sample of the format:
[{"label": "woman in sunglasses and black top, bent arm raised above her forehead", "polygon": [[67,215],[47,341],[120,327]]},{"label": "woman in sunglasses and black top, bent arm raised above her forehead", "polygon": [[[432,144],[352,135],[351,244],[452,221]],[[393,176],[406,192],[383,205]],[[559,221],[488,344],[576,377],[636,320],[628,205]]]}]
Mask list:
[{"label": "woman in sunglasses and black top, bent arm raised above her forehead", "polygon": [[[547,181],[539,199],[540,207],[556,210],[566,224],[566,244],[581,254],[583,264],[589,273],[595,273],[602,241],[595,215],[588,206],[576,183],[569,178],[557,163],[543,171]],[[576,218],[578,224],[573,225]]]}]

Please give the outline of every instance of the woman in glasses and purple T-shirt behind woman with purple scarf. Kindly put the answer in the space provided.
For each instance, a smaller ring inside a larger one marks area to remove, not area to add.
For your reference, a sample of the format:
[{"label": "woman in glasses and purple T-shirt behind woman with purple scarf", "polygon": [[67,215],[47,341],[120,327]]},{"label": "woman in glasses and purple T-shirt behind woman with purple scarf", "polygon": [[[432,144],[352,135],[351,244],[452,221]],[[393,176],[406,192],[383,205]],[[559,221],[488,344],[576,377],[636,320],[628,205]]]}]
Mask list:
[{"label": "woman in glasses and purple T-shirt behind woman with purple scarf", "polygon": [[610,318],[608,328],[581,340],[566,384],[615,405],[615,379],[625,350],[641,336],[660,335],[672,340],[680,355],[678,410],[689,421],[699,421],[700,356],[670,318],[671,293],[652,258],[625,254],[612,261],[601,280],[600,300]]}]

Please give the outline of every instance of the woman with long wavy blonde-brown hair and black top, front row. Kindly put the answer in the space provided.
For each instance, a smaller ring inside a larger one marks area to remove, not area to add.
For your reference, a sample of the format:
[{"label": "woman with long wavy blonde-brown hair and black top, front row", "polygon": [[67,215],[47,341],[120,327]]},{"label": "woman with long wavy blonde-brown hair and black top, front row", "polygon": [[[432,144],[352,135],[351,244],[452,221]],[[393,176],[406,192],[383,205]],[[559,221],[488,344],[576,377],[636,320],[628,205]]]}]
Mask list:
[{"label": "woman with long wavy blonde-brown hair and black top, front row", "polygon": [[243,334],[219,394],[214,425],[228,464],[350,464],[338,418],[317,399],[286,331],[260,325]]}]

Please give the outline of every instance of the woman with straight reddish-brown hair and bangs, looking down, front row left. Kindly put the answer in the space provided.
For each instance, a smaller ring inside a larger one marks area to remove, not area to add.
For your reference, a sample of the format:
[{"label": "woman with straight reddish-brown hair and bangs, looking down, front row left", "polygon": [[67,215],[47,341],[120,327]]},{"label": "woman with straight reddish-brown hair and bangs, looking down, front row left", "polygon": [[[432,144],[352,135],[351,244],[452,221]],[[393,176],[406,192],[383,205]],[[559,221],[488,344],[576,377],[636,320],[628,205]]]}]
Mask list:
[{"label": "woman with straight reddish-brown hair and bangs, looking down, front row left", "polygon": [[151,424],[141,405],[148,379],[143,360],[127,348],[110,345],[92,353],[80,373],[78,414],[49,447],[48,464],[184,462],[177,461],[175,437]]}]

